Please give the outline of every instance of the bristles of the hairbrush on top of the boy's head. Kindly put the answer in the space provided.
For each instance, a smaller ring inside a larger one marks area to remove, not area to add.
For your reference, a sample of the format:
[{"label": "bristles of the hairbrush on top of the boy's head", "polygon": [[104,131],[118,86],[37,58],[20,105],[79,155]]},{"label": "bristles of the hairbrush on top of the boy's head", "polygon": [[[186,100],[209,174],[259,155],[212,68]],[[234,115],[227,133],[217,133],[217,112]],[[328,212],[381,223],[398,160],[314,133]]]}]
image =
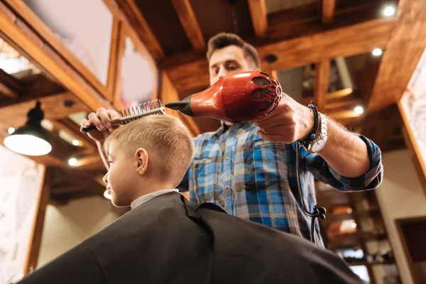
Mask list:
[{"label": "bristles of the hairbrush on top of the boy's head", "polygon": [[165,109],[163,104],[159,99],[155,99],[151,102],[144,102],[143,104],[138,104],[131,106],[127,109],[120,109],[121,114],[121,124],[128,124],[131,121],[140,119],[143,116],[148,116],[152,114],[165,114]]}]

